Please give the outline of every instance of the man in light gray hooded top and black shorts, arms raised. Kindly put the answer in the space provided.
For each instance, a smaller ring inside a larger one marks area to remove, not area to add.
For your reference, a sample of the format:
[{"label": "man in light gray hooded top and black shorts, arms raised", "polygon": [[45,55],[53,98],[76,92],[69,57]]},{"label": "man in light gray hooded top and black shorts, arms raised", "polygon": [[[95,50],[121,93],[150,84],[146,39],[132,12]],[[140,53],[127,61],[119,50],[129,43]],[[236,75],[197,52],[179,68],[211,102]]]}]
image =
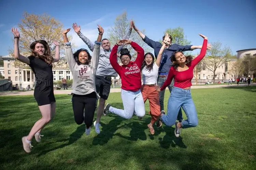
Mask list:
[{"label": "man in light gray hooded top and black shorts, arms raised", "polygon": [[[83,35],[83,33],[80,32],[81,27],[77,26],[76,23],[73,23],[73,29],[77,33],[77,35],[85,42],[88,48],[91,51],[93,51],[94,45],[86,36]],[[125,36],[122,39],[129,39],[131,35],[131,31],[132,31],[132,22],[130,23],[130,28],[128,32],[125,34]],[[119,52],[121,48],[123,48],[123,46],[119,46],[117,52]],[[96,55],[99,55],[99,64],[98,64],[96,77],[95,77],[96,91],[100,95],[99,106],[97,109],[97,118],[96,118],[96,121],[94,122],[95,132],[98,134],[100,133],[100,128],[99,128],[100,118],[103,114],[105,101],[108,99],[109,93],[110,93],[110,87],[112,84],[111,78],[117,77],[117,73],[113,69],[109,61],[111,51],[112,51],[112,48],[109,40],[106,38],[102,39],[100,51],[96,54]]]}]

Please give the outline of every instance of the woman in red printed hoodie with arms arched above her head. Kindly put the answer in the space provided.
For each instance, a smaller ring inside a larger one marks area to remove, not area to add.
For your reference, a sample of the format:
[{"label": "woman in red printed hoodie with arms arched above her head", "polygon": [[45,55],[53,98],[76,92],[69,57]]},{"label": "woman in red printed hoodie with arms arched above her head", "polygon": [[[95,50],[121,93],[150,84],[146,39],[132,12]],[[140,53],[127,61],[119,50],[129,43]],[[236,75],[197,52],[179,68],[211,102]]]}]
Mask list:
[{"label": "woman in red printed hoodie with arms arched above her head", "polygon": [[[123,44],[130,44],[132,48],[137,51],[138,55],[136,60],[131,61],[131,55],[127,48],[120,51],[120,59],[122,66],[117,63],[117,48]],[[121,78],[122,90],[121,98],[123,101],[124,109],[118,109],[106,104],[104,114],[112,112],[125,119],[130,119],[135,111],[139,117],[145,115],[145,106],[141,94],[141,65],[144,60],[144,50],[131,40],[120,40],[113,48],[110,54],[110,63],[115,71]]]}]

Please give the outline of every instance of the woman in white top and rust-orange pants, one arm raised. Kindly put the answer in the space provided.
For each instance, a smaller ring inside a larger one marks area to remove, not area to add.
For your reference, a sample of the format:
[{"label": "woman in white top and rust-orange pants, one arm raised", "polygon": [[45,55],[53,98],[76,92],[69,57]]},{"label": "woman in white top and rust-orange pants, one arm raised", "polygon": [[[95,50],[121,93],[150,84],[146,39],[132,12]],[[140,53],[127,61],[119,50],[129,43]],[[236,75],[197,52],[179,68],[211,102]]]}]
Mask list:
[{"label": "woman in white top and rust-orange pants, one arm raised", "polygon": [[[165,48],[165,42],[168,41],[169,35],[166,33],[165,39],[163,40],[163,45],[161,48]],[[161,50],[160,50],[161,51]],[[155,134],[155,130],[153,128],[153,124],[156,122],[158,117],[160,116],[160,103],[159,103],[159,92],[156,91],[155,85],[157,83],[158,76],[158,68],[160,65],[162,54],[157,55],[157,60],[154,62],[154,55],[152,53],[146,53],[144,55],[144,61],[142,63],[141,72],[143,85],[141,87],[141,93],[143,96],[144,103],[146,100],[149,100],[150,103],[150,115],[151,122],[147,125],[150,129],[150,133],[152,135]]]}]

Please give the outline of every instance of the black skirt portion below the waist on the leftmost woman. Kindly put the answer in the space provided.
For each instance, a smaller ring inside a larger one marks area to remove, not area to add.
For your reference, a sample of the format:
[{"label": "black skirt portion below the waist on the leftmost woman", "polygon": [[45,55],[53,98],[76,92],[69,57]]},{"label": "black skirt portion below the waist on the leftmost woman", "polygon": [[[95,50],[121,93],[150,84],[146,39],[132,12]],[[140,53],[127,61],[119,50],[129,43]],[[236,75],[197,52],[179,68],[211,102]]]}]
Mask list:
[{"label": "black skirt portion below the waist on the leftmost woman", "polygon": [[36,86],[34,89],[34,98],[37,101],[38,106],[51,104],[56,102],[53,86],[46,87],[44,85]]}]

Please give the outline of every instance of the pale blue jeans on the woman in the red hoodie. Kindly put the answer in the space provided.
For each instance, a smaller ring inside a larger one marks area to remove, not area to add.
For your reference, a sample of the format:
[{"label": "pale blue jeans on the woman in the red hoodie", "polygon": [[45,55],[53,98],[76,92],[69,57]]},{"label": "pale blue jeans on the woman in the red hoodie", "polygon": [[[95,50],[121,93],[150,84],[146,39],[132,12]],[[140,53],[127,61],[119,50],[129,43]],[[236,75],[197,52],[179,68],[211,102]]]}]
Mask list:
[{"label": "pale blue jeans on the woman in the red hoodie", "polygon": [[122,89],[121,98],[123,101],[124,110],[110,106],[110,112],[125,119],[130,119],[133,113],[139,117],[143,117],[145,115],[145,105],[140,90],[129,91]]}]

